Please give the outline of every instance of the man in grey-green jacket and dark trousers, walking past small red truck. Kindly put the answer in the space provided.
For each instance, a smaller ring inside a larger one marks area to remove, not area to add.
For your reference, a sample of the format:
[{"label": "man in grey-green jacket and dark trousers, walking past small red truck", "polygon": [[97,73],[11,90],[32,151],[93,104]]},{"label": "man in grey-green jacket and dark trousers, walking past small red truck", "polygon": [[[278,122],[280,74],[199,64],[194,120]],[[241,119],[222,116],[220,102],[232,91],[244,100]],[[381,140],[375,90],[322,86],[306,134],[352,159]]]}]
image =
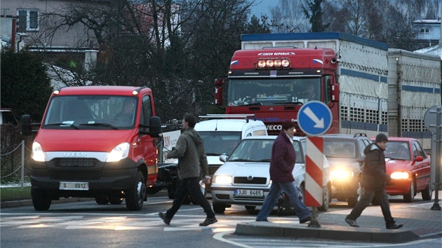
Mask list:
[{"label": "man in grey-green jacket and dark trousers, walking past small red truck", "polygon": [[196,116],[186,113],[182,120],[184,131],[178,138],[175,149],[164,154],[164,158],[178,158],[178,176],[180,177],[180,185],[175,194],[172,207],[167,212],[159,212],[160,218],[168,225],[175,213],[180,209],[182,200],[187,193],[192,198],[194,204],[199,204],[206,212],[207,218],[202,223],[199,223],[199,226],[208,226],[217,222],[215,213],[201,192],[199,185],[201,172],[205,176],[203,181],[206,184],[210,182],[210,177],[208,176],[208,163],[206,153],[204,152],[203,139],[194,130],[195,124]]}]

